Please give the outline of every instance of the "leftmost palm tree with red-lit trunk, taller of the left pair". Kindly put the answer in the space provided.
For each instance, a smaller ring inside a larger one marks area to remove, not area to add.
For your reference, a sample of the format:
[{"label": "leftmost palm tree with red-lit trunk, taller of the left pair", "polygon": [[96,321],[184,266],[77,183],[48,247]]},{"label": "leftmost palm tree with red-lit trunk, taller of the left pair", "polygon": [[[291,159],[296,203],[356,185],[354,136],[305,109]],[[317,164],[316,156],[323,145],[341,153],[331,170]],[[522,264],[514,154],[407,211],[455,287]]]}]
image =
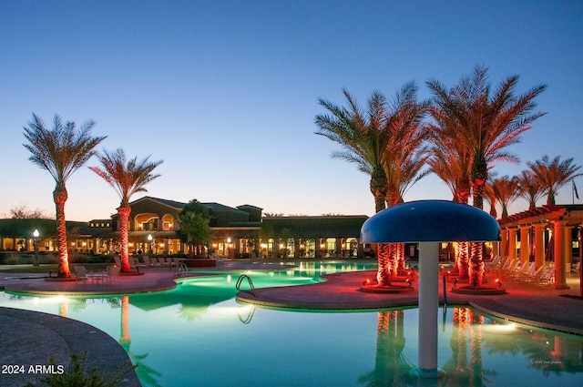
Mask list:
[{"label": "leftmost palm tree with red-lit trunk, taller of the left pair", "polygon": [[66,180],[96,154],[94,148],[106,137],[92,137],[94,121],[87,121],[77,130],[75,122],[66,121],[55,115],[53,128],[48,129],[40,117],[33,114],[33,120],[25,127],[28,144],[24,147],[31,153],[30,161],[46,169],[55,179],[53,199],[56,207],[56,248],[58,250],[58,276],[70,277],[68,252],[66,250],[65,202],[68,198]]}]

